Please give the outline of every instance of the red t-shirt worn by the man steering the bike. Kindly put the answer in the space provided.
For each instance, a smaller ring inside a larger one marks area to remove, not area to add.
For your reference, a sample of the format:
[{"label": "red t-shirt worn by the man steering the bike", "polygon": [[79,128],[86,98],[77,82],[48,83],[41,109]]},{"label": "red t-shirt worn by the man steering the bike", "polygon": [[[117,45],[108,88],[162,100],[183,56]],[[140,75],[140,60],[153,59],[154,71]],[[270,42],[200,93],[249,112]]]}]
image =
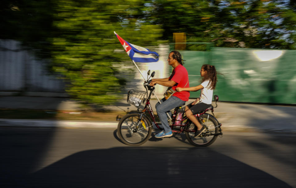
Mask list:
[{"label": "red t-shirt worn by the man steering the bike", "polygon": [[[183,65],[181,64],[178,65],[175,69],[173,69],[173,72],[169,77],[169,80],[173,80],[174,82],[176,82],[176,84],[172,87],[175,91],[178,87],[189,88],[188,72],[186,68],[183,67]],[[175,92],[173,96],[176,96],[183,101],[188,101],[190,93],[189,91]]]}]

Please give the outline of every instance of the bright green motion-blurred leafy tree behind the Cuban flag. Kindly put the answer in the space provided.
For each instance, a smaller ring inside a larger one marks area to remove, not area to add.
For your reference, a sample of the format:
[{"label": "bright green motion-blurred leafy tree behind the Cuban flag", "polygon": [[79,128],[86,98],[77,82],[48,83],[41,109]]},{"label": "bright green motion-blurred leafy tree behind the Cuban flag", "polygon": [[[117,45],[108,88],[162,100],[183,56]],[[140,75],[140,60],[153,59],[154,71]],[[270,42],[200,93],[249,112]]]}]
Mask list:
[{"label": "bright green motion-blurred leafy tree behind the Cuban flag", "polygon": [[[144,46],[161,36],[159,26],[144,21],[142,7],[142,0],[56,1],[53,68],[69,81],[72,97],[99,105],[118,99],[123,79],[114,65],[131,61],[113,31]],[[118,48],[124,53],[114,53]]]}]

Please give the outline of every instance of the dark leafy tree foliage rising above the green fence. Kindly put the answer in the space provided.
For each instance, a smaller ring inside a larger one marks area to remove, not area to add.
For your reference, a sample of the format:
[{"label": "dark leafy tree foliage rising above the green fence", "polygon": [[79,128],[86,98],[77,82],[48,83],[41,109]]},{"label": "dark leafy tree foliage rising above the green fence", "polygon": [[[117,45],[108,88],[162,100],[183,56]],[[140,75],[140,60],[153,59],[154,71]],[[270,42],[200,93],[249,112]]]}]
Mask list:
[{"label": "dark leafy tree foliage rising above the green fence", "polygon": [[295,1],[151,0],[153,24],[164,40],[187,33],[187,42],[216,47],[295,49]]}]

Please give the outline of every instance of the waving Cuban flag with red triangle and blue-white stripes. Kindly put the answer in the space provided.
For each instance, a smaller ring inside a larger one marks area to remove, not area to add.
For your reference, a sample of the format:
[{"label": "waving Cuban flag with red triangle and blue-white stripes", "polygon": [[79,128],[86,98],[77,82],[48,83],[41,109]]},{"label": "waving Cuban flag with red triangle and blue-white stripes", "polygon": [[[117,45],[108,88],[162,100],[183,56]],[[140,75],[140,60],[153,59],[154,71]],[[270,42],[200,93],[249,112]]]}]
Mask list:
[{"label": "waving Cuban flag with red triangle and blue-white stripes", "polygon": [[150,63],[158,61],[158,53],[151,52],[149,49],[143,48],[141,46],[130,44],[129,42],[123,40],[119,35],[117,35],[115,31],[114,34],[125,49],[127,55],[129,55],[134,62]]}]

